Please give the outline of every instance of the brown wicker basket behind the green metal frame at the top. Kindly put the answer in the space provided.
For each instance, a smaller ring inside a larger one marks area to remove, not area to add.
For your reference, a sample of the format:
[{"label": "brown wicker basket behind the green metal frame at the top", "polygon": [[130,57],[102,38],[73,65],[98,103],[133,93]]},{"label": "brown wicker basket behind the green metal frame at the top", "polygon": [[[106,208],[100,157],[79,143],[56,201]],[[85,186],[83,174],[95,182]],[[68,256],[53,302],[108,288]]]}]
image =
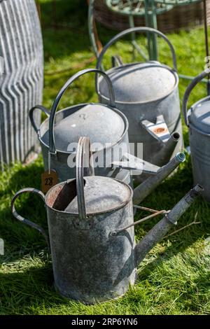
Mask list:
[{"label": "brown wicker basket behind the green metal frame at the top", "polygon": [[[207,0],[208,23],[210,24],[210,0]],[[94,18],[105,27],[123,30],[129,26],[125,15],[113,13],[107,8],[104,0],[96,0],[94,4]],[[144,26],[144,17],[135,17],[135,26]],[[162,32],[177,31],[183,28],[202,25],[203,4],[190,3],[186,6],[176,6],[172,10],[158,15],[158,29]]]}]

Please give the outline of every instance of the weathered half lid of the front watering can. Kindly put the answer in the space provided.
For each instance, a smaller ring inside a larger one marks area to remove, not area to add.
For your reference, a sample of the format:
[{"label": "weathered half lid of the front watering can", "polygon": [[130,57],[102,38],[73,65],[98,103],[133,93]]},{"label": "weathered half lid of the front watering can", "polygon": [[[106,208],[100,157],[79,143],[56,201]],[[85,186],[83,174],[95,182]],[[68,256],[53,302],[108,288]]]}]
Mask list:
[{"label": "weathered half lid of the front watering can", "polygon": [[[121,181],[102,176],[86,176],[84,179],[87,214],[99,214],[118,209],[132,199],[132,189]],[[78,214],[77,197],[74,197],[65,211]]]}]

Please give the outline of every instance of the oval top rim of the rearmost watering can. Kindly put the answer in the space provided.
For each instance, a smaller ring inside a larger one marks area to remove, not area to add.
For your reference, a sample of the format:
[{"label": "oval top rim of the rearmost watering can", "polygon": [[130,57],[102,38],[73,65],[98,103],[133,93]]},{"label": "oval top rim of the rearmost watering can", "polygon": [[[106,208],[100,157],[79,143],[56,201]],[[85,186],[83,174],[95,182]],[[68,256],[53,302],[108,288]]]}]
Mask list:
[{"label": "oval top rim of the rearmost watering can", "polygon": [[[138,102],[122,102],[122,101],[118,101],[116,99],[116,104],[148,104],[148,103],[151,103],[151,102],[158,102],[160,101],[160,99],[164,99],[166,97],[169,96],[169,94],[172,94],[172,92],[174,92],[174,90],[176,89],[176,87],[178,87],[179,85],[179,76],[178,76],[178,73],[176,72],[176,70],[174,70],[173,68],[165,65],[165,64],[162,64],[160,63],[160,65],[158,64],[155,64],[154,62],[134,62],[134,63],[128,63],[128,64],[123,64],[121,66],[115,66],[115,67],[112,67],[111,69],[107,70],[106,73],[111,73],[113,71],[116,71],[116,70],[120,70],[122,69],[123,67],[128,67],[128,66],[135,66],[135,65],[142,65],[142,64],[150,64],[149,66],[146,66],[149,68],[152,67],[161,67],[161,68],[164,68],[164,69],[167,69],[168,71],[170,71],[173,75],[174,75],[174,78],[176,80],[175,84],[174,84],[174,87],[172,88],[172,90],[170,90],[169,92],[167,92],[165,95],[162,95],[161,97],[158,97],[158,98],[155,98],[155,99],[149,99],[148,101],[138,101]],[[102,81],[102,77],[99,78],[99,82]],[[102,92],[99,90],[99,87],[97,88],[97,92],[99,94],[100,97],[102,97],[102,99],[106,99],[106,102],[109,102],[110,99],[109,97],[106,97],[104,96],[104,94],[102,94]]]}]

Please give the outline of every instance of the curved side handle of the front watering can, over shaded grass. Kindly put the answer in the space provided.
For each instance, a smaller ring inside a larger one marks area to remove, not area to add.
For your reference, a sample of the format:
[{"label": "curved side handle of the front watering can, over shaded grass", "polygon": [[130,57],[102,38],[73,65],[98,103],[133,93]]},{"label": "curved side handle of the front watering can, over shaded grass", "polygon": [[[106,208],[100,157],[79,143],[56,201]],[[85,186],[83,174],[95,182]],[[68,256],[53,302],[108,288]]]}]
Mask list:
[{"label": "curved side handle of the front watering can, over shaded grass", "polygon": [[19,197],[19,195],[21,195],[23,193],[35,193],[41,197],[41,200],[43,200],[43,202],[45,202],[45,196],[43,195],[43,193],[40,190],[36,190],[36,188],[23,188],[22,190],[19,190],[17,193],[15,193],[15,195],[11,201],[10,207],[11,207],[13,216],[16,219],[18,219],[18,221],[31,226],[31,228],[35,228],[36,230],[38,230],[38,232],[40,232],[43,235],[43,237],[45,238],[45,241],[48,244],[48,248],[50,248],[49,238],[48,238],[48,235],[45,233],[45,230],[43,230],[43,228],[41,228],[41,226],[39,226],[38,224],[33,223],[33,222],[29,221],[28,219],[22,217],[20,214],[18,214],[18,212],[15,209],[15,200]]}]

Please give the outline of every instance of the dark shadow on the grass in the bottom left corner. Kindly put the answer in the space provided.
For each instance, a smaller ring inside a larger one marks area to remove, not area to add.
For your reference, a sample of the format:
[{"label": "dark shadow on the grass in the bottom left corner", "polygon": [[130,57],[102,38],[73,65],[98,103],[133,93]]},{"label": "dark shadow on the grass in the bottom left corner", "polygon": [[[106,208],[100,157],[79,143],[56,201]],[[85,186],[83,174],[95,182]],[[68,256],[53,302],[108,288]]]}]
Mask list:
[{"label": "dark shadow on the grass in the bottom left corner", "polygon": [[0,274],[0,313],[34,313],[30,307],[64,302],[53,286],[52,265]]}]

